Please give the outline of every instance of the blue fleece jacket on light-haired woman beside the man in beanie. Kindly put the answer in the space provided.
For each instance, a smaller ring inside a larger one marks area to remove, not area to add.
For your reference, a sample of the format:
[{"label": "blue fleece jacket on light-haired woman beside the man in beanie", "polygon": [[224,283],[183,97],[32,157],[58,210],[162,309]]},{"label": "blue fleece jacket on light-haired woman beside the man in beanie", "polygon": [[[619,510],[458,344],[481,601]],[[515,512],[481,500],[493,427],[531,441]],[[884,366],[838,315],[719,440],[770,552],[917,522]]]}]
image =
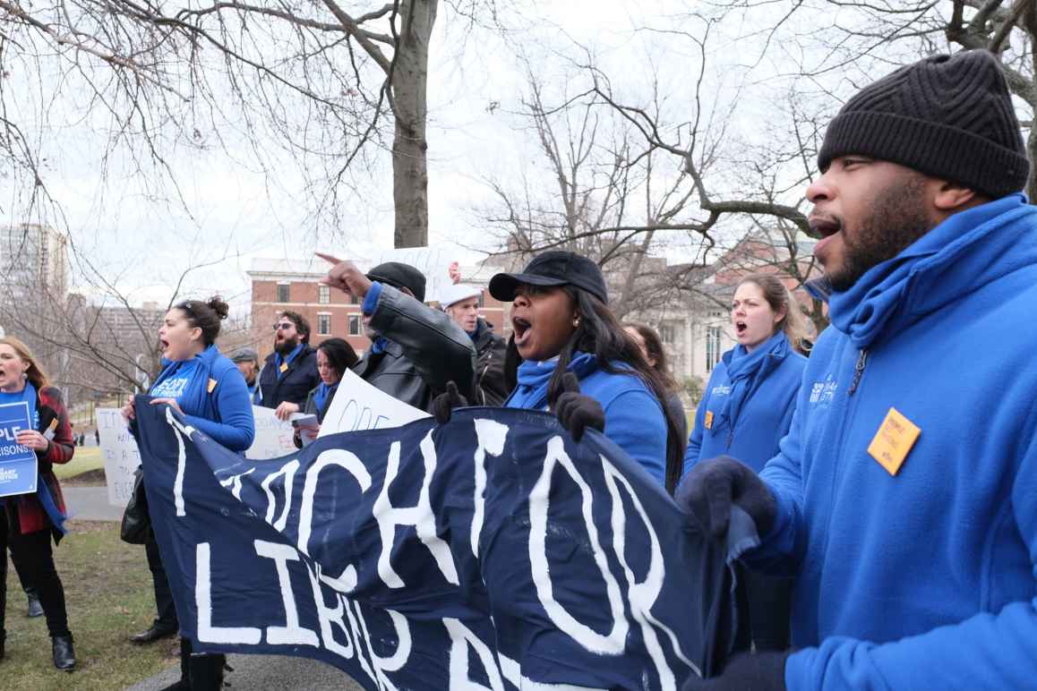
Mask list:
[{"label": "blue fleece jacket on light-haired woman beside the man in beanie", "polygon": [[722,454],[762,470],[792,424],[806,366],[782,332],[751,353],[740,344],[724,353],[695,411],[684,473]]}]

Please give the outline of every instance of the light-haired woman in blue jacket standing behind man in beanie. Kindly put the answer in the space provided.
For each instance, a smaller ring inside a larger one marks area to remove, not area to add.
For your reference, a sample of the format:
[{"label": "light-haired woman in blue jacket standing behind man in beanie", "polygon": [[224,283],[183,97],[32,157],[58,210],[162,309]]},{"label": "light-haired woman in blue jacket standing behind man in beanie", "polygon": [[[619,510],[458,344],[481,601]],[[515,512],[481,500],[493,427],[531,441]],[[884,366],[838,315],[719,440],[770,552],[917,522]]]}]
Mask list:
[{"label": "light-haired woman in blue jacket standing behind man in beanie", "polygon": [[[731,299],[738,341],[712,371],[684,452],[684,476],[702,460],[732,456],[759,472],[778,454],[795,411],[806,330],[795,298],[773,273],[745,277]],[[746,571],[748,629],[758,651],[789,644],[791,583]]]}]

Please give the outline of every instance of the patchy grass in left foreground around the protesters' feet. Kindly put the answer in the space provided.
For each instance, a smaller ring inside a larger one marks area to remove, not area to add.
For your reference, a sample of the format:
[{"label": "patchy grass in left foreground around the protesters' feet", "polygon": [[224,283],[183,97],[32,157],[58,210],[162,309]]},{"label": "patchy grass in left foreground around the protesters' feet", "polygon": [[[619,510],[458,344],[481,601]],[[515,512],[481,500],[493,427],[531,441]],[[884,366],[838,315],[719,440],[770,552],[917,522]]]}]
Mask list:
[{"label": "patchy grass in left foreground around the protesters' feet", "polygon": [[7,656],[0,661],[4,691],[122,689],[177,663],[175,637],[144,646],[128,640],[155,617],[144,548],[119,540],[116,523],[69,521],[68,526],[54,556],[79,664],[72,673],[54,668],[47,623],[25,615],[25,596],[9,568]]}]

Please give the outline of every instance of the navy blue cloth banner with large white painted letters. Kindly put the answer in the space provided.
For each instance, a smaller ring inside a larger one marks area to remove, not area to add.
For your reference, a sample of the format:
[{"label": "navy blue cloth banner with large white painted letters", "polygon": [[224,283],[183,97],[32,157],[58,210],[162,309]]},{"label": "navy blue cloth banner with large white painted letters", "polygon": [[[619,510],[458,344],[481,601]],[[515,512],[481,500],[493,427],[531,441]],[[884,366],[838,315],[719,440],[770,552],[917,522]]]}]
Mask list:
[{"label": "navy blue cloth banner with large white painted letters", "polygon": [[596,432],[467,408],[254,461],[144,401],[148,507],[197,651],[493,691],[676,689],[729,651],[725,550]]}]

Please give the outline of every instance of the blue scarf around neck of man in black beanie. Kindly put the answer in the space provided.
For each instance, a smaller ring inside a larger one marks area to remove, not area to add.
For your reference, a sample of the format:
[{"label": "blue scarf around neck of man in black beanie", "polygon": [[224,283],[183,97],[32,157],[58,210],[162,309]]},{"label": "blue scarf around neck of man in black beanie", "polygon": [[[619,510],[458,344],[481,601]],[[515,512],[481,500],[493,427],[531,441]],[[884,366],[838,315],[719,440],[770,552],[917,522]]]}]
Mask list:
[{"label": "blue scarf around neck of man in black beanie", "polygon": [[1035,212],[1021,194],[955,213],[829,299],[832,323],[858,348],[897,334],[974,287],[1029,261],[1013,252],[1018,221]]}]

